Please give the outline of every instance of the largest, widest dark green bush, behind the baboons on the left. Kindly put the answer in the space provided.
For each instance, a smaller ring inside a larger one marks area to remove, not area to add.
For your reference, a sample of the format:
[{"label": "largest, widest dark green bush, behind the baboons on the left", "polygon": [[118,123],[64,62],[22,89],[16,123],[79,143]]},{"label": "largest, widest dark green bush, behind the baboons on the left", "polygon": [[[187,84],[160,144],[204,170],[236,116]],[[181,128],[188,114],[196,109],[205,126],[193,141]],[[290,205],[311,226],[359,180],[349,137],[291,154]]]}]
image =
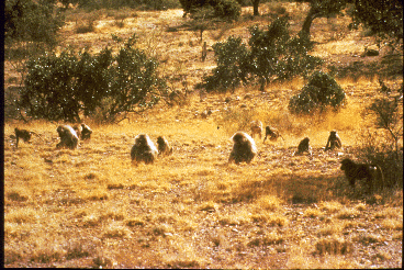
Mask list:
[{"label": "largest, widest dark green bush, behind the baboons on the left", "polygon": [[70,122],[94,112],[103,122],[115,122],[123,113],[153,106],[166,85],[158,63],[134,44],[130,38],[116,56],[106,47],[94,56],[66,49],[30,59],[19,106],[32,117]]}]

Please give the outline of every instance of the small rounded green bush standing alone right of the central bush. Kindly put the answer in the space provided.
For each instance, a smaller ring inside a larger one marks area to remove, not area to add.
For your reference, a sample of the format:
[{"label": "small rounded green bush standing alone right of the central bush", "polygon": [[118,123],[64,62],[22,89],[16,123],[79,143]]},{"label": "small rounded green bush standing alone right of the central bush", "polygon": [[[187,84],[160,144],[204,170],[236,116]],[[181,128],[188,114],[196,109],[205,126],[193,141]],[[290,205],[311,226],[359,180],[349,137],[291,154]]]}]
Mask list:
[{"label": "small rounded green bush standing alone right of the central bush", "polygon": [[294,114],[308,114],[324,111],[328,106],[338,109],[344,105],[345,92],[327,74],[316,71],[302,91],[289,102],[289,111]]}]

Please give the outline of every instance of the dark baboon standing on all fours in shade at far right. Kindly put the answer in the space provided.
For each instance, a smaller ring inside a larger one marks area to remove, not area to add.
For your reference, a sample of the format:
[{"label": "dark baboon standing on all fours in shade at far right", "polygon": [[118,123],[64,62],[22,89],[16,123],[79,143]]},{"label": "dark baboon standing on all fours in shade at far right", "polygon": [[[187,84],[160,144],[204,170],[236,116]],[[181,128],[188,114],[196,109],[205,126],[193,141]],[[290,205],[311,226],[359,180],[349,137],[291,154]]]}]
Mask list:
[{"label": "dark baboon standing on all fours in shade at far right", "polygon": [[345,176],[347,177],[350,187],[355,190],[355,180],[366,179],[366,183],[369,188],[369,191],[373,190],[373,182],[377,178],[377,171],[380,175],[382,184],[384,182],[383,171],[378,165],[369,165],[369,164],[356,164],[350,158],[345,158],[341,161],[341,170],[344,170]]}]

